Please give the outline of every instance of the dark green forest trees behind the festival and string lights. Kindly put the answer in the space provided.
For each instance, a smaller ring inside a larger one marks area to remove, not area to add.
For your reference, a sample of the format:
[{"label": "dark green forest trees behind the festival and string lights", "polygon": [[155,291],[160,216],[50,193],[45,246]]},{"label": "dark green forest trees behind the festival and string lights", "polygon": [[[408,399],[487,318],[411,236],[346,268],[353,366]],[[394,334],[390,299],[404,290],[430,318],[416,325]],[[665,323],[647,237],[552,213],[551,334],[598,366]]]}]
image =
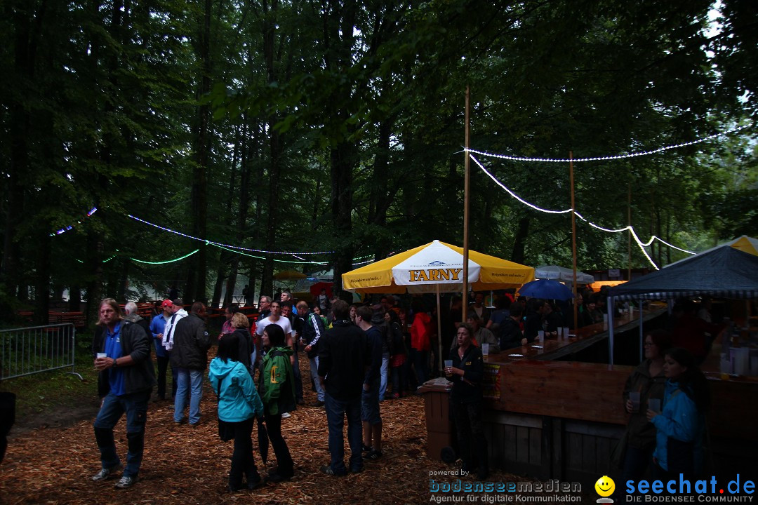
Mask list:
[{"label": "dark green forest trees behind the festival and string lights", "polygon": [[[746,126],[577,164],[576,208],[626,226],[631,187],[641,238],[691,250],[758,230],[753,0],[3,0],[0,38],[0,316],[171,282],[218,305],[241,276],[271,293],[277,270],[339,282],[353,258],[460,244],[466,86],[481,151],[593,157]],[[482,161],[571,206],[567,164]],[[568,265],[569,223],[472,164],[471,248]],[[577,235],[580,268],[626,267],[625,233]]]}]

